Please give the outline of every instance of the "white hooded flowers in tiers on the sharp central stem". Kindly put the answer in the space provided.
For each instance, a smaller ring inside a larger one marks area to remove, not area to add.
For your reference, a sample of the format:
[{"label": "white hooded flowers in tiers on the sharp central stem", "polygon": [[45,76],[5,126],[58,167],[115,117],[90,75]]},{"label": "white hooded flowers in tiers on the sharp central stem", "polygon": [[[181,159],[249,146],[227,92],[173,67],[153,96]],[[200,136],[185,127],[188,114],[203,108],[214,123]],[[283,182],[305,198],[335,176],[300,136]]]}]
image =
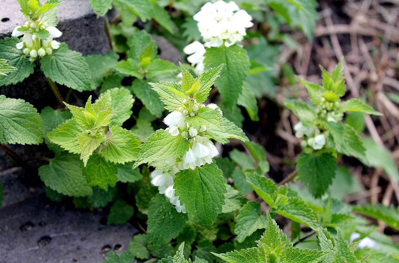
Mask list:
[{"label": "white hooded flowers in tiers on the sharp central stem", "polygon": [[[192,108],[194,111],[198,111],[202,107],[209,107],[211,109],[217,109],[222,114],[219,107],[216,104],[210,103],[203,105],[196,103]],[[172,136],[178,136],[181,134],[183,138],[186,138],[190,142],[190,148],[186,151],[182,159],[170,158],[165,162],[156,162],[151,165],[155,167],[155,170],[151,173],[151,183],[158,187],[160,194],[165,194],[169,198],[178,212],[186,213],[184,205],[180,204],[178,196],[175,196],[174,178],[177,172],[186,169],[195,169],[197,166],[203,166],[205,164],[211,164],[212,158],[219,154],[216,146],[211,141],[211,138],[206,136],[206,126],[202,125],[199,130],[194,127],[190,127],[185,122],[187,116],[192,115],[187,109],[180,111],[173,111],[169,113],[164,123],[168,125],[166,129]]]}]

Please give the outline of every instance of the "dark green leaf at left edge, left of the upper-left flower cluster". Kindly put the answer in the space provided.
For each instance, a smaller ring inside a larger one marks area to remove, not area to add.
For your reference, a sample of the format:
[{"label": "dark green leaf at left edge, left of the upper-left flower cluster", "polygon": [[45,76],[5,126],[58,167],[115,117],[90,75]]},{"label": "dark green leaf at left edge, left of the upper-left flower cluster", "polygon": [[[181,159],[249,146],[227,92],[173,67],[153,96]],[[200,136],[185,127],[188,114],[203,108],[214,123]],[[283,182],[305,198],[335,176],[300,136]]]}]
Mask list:
[{"label": "dark green leaf at left edge, left of the upper-left flower cluster", "polygon": [[16,84],[23,81],[34,72],[35,64],[31,63],[15,45],[19,38],[5,37],[0,40],[0,58],[8,60],[10,66],[18,68],[18,71],[10,72],[8,76],[0,74],[0,86]]}]

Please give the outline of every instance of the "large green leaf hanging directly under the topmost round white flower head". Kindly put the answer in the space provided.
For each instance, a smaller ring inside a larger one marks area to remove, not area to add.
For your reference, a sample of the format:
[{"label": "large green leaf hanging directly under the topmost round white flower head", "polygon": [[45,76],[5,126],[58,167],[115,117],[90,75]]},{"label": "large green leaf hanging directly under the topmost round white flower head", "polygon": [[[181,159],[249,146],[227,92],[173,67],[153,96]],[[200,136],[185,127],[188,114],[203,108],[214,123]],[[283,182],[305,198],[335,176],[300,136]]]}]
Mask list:
[{"label": "large green leaf hanging directly under the topmost round white flower head", "polygon": [[247,51],[239,45],[226,47],[210,47],[205,52],[204,64],[206,68],[218,67],[224,64],[215,86],[219,90],[223,103],[232,107],[237,103],[242,92],[242,86],[247,79],[251,63]]}]

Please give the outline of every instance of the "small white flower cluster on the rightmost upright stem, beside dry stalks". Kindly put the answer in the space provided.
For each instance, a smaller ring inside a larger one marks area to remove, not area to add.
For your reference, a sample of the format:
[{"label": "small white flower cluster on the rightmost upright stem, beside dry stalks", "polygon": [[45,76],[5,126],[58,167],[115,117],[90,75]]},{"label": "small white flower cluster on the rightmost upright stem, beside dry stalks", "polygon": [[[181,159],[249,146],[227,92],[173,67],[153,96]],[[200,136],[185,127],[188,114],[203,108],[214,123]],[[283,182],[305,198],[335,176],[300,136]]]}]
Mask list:
[{"label": "small white flower cluster on the rightmost upright stem, beside dry stalks", "polygon": [[306,136],[306,140],[302,141],[302,146],[309,145],[314,150],[320,150],[326,144],[326,136],[321,133],[316,126],[306,127],[302,122],[298,122],[294,126],[295,137],[302,138]]}]

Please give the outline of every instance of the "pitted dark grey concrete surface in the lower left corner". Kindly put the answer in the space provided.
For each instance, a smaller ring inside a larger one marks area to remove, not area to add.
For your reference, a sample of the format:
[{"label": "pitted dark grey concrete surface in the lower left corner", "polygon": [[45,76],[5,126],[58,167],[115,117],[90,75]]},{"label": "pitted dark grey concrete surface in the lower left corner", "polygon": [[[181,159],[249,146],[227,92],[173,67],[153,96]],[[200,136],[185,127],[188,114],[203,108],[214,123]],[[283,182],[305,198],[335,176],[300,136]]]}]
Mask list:
[{"label": "pitted dark grey concrete surface in the lower left corner", "polygon": [[103,225],[103,212],[65,208],[44,194],[0,209],[0,263],[101,263],[137,230]]}]

